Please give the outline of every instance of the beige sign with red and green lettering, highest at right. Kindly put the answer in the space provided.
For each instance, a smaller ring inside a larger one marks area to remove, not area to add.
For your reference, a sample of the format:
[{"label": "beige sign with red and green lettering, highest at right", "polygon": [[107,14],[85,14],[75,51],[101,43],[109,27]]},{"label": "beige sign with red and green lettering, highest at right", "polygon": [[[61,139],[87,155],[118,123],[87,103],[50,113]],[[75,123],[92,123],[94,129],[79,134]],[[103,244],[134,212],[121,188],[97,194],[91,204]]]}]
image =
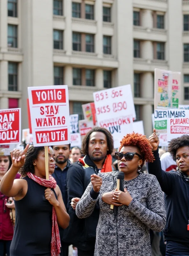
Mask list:
[{"label": "beige sign with red and green lettering, highest at right", "polygon": [[178,108],[181,73],[155,68],[154,109]]}]

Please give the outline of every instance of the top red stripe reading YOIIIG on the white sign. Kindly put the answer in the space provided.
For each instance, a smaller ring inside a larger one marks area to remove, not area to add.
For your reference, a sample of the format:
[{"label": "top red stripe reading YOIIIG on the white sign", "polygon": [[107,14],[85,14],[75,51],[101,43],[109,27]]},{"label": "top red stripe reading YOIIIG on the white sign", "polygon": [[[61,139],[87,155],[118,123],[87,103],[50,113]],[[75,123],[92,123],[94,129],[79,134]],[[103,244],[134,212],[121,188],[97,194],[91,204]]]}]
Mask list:
[{"label": "top red stripe reading YOIIIG on the white sign", "polygon": [[44,89],[32,91],[33,104],[66,103],[65,89]]}]

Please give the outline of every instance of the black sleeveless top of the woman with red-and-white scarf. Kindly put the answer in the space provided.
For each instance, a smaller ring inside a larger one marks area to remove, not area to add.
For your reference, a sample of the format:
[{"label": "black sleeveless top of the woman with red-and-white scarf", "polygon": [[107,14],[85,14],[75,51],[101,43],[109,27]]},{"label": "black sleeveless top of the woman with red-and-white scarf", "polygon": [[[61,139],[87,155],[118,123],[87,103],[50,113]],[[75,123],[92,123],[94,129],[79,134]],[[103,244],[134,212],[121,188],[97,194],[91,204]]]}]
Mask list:
[{"label": "black sleeveless top of the woman with red-and-white scarf", "polygon": [[26,177],[26,196],[15,202],[16,221],[11,256],[50,256],[52,205],[45,199],[45,187]]}]

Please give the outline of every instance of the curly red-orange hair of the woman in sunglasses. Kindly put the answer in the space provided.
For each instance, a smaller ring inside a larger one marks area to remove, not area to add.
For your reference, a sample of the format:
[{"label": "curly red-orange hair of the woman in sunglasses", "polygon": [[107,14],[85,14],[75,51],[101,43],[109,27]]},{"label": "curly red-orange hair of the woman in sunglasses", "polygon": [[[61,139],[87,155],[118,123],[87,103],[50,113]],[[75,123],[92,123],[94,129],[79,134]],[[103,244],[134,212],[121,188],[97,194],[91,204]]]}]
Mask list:
[{"label": "curly red-orange hair of the woman in sunglasses", "polygon": [[142,154],[142,161],[141,167],[145,164],[145,161],[153,162],[154,155],[152,153],[152,145],[150,144],[149,140],[146,138],[145,135],[139,134],[139,133],[128,133],[123,139],[120,141],[120,147],[124,146],[133,146],[140,150],[140,153]]}]

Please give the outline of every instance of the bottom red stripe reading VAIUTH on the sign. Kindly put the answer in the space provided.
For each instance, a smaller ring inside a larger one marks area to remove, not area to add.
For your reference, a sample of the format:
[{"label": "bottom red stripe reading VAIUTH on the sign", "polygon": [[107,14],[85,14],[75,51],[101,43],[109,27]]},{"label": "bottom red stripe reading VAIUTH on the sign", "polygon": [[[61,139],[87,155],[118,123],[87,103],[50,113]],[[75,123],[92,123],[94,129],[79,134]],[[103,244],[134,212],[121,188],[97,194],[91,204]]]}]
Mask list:
[{"label": "bottom red stripe reading VAIUTH on the sign", "polygon": [[38,131],[35,132],[37,144],[46,142],[57,142],[68,140],[68,129],[59,129],[56,131]]}]

